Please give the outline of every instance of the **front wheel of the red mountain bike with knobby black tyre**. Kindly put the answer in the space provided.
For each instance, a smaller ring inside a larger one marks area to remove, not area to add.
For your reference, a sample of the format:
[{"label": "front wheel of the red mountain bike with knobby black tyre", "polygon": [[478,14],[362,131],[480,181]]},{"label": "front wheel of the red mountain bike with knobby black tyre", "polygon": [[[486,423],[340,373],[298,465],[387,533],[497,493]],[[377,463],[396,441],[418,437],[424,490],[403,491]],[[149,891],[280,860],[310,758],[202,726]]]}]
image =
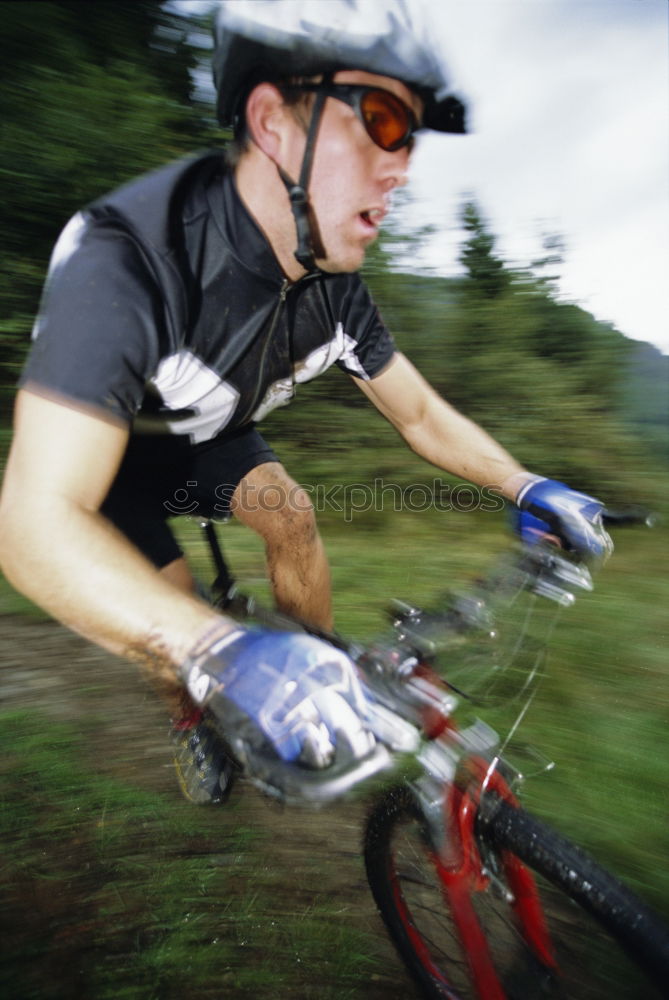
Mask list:
[{"label": "front wheel of the red mountain bike with knobby black tyre", "polygon": [[[365,831],[367,877],[423,996],[448,1000],[638,1000],[666,996],[669,934],[621,883],[549,827],[496,795],[476,819],[480,858],[465,898],[447,888],[408,786]],[[458,898],[460,903],[457,902]],[[463,944],[465,922],[481,947]],[[454,919],[455,916],[455,919]],[[485,954],[487,952],[487,954]],[[486,964],[489,966],[486,968]]]}]

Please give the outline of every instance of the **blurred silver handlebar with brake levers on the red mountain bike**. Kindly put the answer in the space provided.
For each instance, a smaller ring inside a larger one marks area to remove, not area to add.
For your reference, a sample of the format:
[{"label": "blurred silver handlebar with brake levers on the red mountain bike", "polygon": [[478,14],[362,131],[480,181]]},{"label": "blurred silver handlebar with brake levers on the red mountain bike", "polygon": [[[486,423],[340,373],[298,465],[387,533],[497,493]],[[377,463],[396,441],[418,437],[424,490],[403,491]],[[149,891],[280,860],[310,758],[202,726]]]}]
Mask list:
[{"label": "blurred silver handlebar with brake levers on the red mountain bike", "polygon": [[[652,513],[640,506],[607,509],[603,520],[615,527],[651,527],[655,523]],[[430,672],[437,655],[453,656],[472,635],[495,637],[497,609],[492,608],[493,604],[512,605],[518,595],[526,593],[569,607],[579,590],[592,589],[587,567],[562,550],[547,543],[519,544],[473,593],[451,596],[443,609],[426,613],[396,602],[391,609],[392,637],[381,643],[363,646],[304,623],[291,623],[283,615],[262,612],[263,624],[277,627],[280,620],[280,627],[306,630],[343,649],[356,662],[368,697],[370,728],[376,744],[362,759],[338,747],[335,763],[323,770],[285,763],[240,736],[231,740],[231,749],[250,780],[264,792],[282,801],[311,805],[323,805],[374,775],[387,772],[396,765],[399,754],[429,759],[420,748],[448,725],[460,701],[457,695],[462,695],[448,679]],[[238,603],[237,610],[241,607],[245,615],[257,617],[259,609],[253,604]],[[521,646],[522,637],[515,643],[514,655]],[[488,651],[486,655],[491,654]],[[435,720],[441,720],[443,725],[435,727]]]}]

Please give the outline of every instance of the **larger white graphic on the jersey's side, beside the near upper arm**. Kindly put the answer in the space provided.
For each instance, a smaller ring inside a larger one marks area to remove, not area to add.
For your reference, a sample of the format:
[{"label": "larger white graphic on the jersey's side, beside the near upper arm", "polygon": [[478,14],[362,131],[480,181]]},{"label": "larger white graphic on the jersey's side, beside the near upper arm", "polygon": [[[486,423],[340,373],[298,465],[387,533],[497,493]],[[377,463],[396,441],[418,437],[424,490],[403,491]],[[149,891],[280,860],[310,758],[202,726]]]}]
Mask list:
[{"label": "larger white graphic on the jersey's side, beside the near upper arm", "polygon": [[[239,393],[224,382],[204,361],[188,350],[164,358],[150,383],[170,410],[192,410],[192,416],[163,418],[173,434],[190,434],[197,444],[208,441],[220,431],[235,412]],[[135,421],[137,430],[156,430],[155,418],[142,415]]]}]

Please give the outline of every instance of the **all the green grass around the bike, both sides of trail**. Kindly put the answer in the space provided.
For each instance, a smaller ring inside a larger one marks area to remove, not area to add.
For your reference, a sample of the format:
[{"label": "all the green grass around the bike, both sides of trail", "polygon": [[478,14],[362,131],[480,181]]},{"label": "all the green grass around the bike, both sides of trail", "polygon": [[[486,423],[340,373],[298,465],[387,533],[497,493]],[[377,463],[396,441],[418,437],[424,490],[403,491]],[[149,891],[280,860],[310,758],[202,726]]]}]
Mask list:
[{"label": "all the green grass around the bike, both sides of trail", "polygon": [[[473,514],[360,515],[350,524],[326,516],[322,529],[337,626],[367,638],[386,628],[392,597],[434,603],[506,545],[499,518]],[[179,533],[210,578],[197,525],[181,522]],[[237,525],[221,534],[240,580],[266,595],[257,539]],[[620,534],[594,593],[564,613],[520,738],[557,762],[526,782],[527,806],[669,916],[667,542],[664,528]],[[514,719],[505,708],[481,715],[501,732]],[[96,777],[82,741],[86,727],[34,714],[2,720],[6,995],[366,995],[379,969],[374,942],[341,900],[305,902],[319,881],[308,859],[295,874],[296,900],[282,904],[285,872],[255,868],[262,826],[238,827],[233,807],[214,828],[200,810]],[[12,919],[25,915],[26,900],[33,925],[21,934]]]}]

